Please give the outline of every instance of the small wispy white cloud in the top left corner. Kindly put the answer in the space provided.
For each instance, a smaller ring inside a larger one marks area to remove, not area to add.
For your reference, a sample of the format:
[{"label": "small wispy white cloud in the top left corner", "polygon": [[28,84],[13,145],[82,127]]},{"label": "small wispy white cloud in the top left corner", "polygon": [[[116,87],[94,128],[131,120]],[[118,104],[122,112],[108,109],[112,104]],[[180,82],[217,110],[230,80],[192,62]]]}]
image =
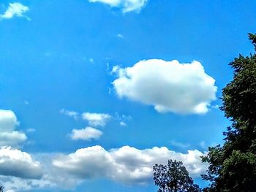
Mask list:
[{"label": "small wispy white cloud in the top left corner", "polygon": [[23,15],[27,11],[29,11],[29,7],[26,7],[23,4],[10,3],[4,14],[0,15],[0,19],[11,19],[16,16],[18,18],[26,18],[27,20],[29,20],[29,18]]}]

